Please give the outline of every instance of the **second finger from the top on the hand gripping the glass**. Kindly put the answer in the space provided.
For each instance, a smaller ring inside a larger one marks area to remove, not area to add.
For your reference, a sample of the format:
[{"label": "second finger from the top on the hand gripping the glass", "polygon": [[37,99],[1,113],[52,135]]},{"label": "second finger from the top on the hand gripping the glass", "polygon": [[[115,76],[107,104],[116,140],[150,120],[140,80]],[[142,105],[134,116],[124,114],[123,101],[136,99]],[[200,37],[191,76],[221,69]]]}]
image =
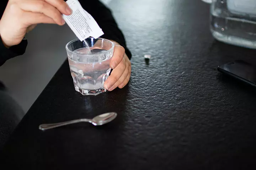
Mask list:
[{"label": "second finger from the top on the hand gripping the glass", "polygon": [[125,58],[123,58],[122,62],[119,63],[115,69],[113,69],[111,75],[107,78],[106,82],[104,83],[105,89],[109,90],[110,87],[112,87],[117,82],[117,80],[119,80],[125,69],[126,61]]}]

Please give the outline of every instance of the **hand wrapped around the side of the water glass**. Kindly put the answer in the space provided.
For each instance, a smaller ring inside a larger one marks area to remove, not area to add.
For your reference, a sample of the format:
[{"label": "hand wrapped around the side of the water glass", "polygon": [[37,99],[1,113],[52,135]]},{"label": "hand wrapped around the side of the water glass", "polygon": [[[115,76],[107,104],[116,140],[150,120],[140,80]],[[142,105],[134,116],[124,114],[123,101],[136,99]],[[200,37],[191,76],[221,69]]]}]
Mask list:
[{"label": "hand wrapped around the side of the water glass", "polygon": [[[114,42],[114,44],[118,43]],[[122,46],[115,45],[110,67],[113,71],[105,81],[104,88],[108,91],[112,91],[116,87],[122,89],[128,83],[131,75],[131,63]]]}]

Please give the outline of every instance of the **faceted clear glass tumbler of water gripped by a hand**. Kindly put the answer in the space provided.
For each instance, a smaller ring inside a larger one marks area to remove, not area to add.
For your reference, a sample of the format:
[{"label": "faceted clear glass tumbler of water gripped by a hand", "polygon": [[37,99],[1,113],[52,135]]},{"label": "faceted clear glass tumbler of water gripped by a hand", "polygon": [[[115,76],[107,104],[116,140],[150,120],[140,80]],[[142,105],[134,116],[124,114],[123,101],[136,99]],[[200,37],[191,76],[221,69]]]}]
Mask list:
[{"label": "faceted clear glass tumbler of water gripped by a hand", "polygon": [[101,38],[76,39],[66,45],[66,51],[75,90],[82,95],[106,92],[103,85],[111,71],[113,42]]}]

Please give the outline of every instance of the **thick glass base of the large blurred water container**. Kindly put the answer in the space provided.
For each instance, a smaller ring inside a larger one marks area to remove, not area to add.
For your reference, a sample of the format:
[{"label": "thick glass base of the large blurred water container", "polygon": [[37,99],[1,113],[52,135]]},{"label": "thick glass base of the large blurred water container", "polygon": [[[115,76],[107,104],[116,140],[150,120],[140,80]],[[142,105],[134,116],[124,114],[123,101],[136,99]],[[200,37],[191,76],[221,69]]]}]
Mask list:
[{"label": "thick glass base of the large blurred water container", "polygon": [[221,34],[217,31],[214,31],[213,29],[211,29],[211,32],[213,37],[219,41],[222,41],[231,45],[246,47],[250,49],[256,49],[256,41],[251,41],[251,40],[239,38],[236,36]]}]

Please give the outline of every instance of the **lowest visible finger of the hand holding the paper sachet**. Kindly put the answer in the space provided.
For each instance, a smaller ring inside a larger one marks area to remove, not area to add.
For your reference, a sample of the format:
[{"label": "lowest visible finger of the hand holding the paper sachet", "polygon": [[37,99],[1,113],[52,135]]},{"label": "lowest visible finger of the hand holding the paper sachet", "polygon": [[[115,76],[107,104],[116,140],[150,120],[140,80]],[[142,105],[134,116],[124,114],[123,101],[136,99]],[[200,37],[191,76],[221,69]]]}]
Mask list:
[{"label": "lowest visible finger of the hand holding the paper sachet", "polygon": [[42,13],[24,12],[23,16],[24,16],[23,18],[26,19],[26,22],[29,25],[38,24],[38,23],[56,24],[52,18]]}]

